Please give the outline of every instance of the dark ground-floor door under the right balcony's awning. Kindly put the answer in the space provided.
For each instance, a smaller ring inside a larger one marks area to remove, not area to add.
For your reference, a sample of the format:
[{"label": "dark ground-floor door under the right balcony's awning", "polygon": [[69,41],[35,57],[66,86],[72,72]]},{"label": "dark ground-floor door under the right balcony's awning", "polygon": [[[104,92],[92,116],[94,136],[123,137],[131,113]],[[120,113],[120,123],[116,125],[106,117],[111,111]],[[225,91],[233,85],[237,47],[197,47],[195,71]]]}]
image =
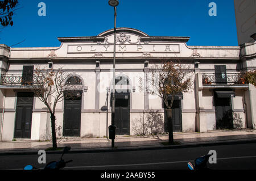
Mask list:
[{"label": "dark ground-floor door under the right balcony's awning", "polygon": [[214,95],[216,129],[233,129],[231,97],[218,98]]}]

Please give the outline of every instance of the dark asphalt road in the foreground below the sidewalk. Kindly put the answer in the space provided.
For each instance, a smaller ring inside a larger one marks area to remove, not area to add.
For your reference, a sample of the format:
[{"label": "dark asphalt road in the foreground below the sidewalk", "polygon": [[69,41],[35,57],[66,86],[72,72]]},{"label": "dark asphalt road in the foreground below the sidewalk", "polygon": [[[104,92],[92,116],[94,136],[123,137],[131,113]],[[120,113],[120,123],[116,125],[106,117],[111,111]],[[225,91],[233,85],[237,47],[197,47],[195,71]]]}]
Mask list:
[{"label": "dark asphalt road in the foreground below the sidewalk", "polygon": [[[68,153],[65,169],[83,170],[187,170],[187,162],[216,150],[217,163],[208,163],[213,170],[256,170],[256,144],[201,146],[196,148],[114,151],[102,153]],[[60,159],[61,154],[46,155],[46,162]],[[23,169],[26,165],[42,168],[39,155],[0,155],[0,169]]]}]

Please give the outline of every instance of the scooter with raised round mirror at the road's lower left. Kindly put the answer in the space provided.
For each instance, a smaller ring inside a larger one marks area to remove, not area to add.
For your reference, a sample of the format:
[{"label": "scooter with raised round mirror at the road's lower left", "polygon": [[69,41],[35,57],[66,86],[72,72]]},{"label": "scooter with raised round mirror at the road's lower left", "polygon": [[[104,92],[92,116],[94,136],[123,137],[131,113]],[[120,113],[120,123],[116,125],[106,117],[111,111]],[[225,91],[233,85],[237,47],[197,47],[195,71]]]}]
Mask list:
[{"label": "scooter with raised round mirror at the road's lower left", "polygon": [[[63,153],[60,157],[60,161],[52,161],[52,162],[47,163],[47,165],[44,167],[43,170],[60,170],[60,169],[63,169],[67,163],[72,162],[73,161],[72,159],[67,162],[65,162],[64,159],[62,159],[64,153],[67,153],[70,149],[71,149],[70,146],[66,146],[63,149]],[[24,170],[40,170],[40,169],[38,169],[32,165],[27,165],[24,167]]]}]

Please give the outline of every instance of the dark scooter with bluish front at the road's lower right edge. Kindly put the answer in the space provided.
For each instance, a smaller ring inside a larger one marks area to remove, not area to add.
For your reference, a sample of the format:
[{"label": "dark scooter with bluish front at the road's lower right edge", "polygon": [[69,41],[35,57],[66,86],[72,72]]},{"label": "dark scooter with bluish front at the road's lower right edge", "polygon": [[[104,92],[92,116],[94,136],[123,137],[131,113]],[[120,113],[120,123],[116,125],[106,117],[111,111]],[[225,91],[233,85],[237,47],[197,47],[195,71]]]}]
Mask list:
[{"label": "dark scooter with bluish front at the road's lower right edge", "polygon": [[212,156],[212,154],[207,154],[204,156],[201,156],[199,158],[196,158],[195,161],[193,163],[188,162],[188,169],[190,170],[209,170],[209,168],[207,167],[207,162],[210,158],[210,156]]}]

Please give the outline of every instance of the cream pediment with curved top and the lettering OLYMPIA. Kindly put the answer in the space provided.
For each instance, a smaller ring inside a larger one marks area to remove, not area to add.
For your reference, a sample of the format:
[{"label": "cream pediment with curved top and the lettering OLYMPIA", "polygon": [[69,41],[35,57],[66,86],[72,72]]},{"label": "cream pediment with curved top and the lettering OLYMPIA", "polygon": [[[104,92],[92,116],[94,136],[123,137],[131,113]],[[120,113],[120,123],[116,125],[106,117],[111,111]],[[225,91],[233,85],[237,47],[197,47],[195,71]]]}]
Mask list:
[{"label": "cream pediment with curved top and the lettering OLYMPIA", "polygon": [[[86,54],[86,56],[106,58],[112,57],[114,43],[116,56],[155,57],[159,54],[180,53],[181,48],[188,49],[185,42],[189,37],[148,36],[134,28],[117,28],[114,39],[114,30],[107,30],[97,36],[90,37],[61,37],[59,38],[65,52],[72,54]],[[136,55],[135,55],[136,54]],[[191,50],[189,50],[189,56]]]}]

